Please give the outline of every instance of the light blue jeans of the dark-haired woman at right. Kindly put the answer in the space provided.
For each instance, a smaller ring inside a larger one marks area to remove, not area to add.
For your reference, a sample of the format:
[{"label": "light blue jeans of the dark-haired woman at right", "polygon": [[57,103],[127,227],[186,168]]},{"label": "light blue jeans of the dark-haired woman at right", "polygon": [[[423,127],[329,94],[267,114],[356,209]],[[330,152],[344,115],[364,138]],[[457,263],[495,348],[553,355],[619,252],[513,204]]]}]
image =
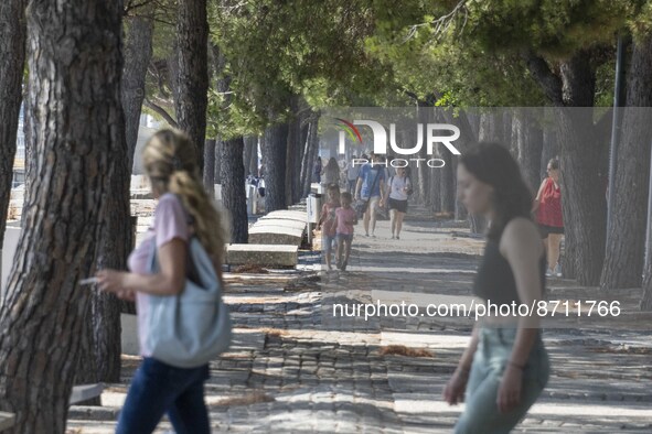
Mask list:
[{"label": "light blue jeans of the dark-haired woman at right", "polygon": [[498,390],[515,337],[515,328],[480,329],[478,349],[467,383],[467,406],[455,426],[456,434],[509,433],[541,395],[548,382],[549,360],[539,332],[523,369],[521,403],[507,413],[498,410]]}]

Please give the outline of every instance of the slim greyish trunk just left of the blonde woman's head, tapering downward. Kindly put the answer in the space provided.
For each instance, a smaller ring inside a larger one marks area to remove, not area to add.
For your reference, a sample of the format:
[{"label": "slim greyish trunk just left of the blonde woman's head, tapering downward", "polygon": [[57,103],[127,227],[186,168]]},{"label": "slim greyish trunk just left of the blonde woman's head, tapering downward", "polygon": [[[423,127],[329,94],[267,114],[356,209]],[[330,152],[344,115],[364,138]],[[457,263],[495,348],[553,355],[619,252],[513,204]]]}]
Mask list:
[{"label": "slim greyish trunk just left of the blonde woman's head, tapering downward", "polygon": [[143,15],[127,18],[124,45],[125,66],[122,69],[122,110],[125,111],[125,135],[127,137],[128,167],[133,167],[133,152],[138,142],[140,113],[145,100],[145,78],[152,56],[153,19],[149,7]]}]

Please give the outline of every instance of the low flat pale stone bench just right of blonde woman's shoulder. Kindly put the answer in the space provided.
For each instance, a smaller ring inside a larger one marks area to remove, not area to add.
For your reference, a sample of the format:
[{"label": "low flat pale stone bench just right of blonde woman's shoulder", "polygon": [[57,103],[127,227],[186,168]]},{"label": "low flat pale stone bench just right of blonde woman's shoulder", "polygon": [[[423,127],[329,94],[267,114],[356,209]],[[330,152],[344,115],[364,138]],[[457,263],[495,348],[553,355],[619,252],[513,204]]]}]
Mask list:
[{"label": "low flat pale stone bench just right of blonde woman's shoulder", "polygon": [[298,251],[297,246],[228,245],[226,263],[228,265],[296,267]]}]

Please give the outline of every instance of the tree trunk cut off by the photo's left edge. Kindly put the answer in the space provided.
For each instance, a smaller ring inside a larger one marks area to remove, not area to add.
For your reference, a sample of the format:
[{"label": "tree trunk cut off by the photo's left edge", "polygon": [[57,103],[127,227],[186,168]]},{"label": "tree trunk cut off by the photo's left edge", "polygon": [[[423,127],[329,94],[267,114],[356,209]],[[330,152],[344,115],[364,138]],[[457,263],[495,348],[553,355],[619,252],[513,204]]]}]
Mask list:
[{"label": "tree trunk cut off by the photo's left edge", "polygon": [[[18,118],[22,101],[25,63],[26,0],[0,3],[0,252],[7,228],[7,211],[13,178]],[[2,273],[9,270],[1,270]]]}]

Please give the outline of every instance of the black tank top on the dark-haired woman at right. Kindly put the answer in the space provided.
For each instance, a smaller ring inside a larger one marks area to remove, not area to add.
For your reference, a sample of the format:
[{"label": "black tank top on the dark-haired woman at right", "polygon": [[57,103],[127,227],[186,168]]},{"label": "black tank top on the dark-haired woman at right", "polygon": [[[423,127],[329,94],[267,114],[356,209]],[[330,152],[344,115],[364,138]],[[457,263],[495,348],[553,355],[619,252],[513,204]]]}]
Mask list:
[{"label": "black tank top on the dark-haired woman at right", "polygon": [[[542,254],[539,261],[539,274],[542,292],[545,293],[545,254]],[[484,257],[473,282],[473,294],[483,300],[491,300],[493,304],[521,303],[512,267],[510,267],[505,257],[500,252],[498,241],[487,241]]]}]

